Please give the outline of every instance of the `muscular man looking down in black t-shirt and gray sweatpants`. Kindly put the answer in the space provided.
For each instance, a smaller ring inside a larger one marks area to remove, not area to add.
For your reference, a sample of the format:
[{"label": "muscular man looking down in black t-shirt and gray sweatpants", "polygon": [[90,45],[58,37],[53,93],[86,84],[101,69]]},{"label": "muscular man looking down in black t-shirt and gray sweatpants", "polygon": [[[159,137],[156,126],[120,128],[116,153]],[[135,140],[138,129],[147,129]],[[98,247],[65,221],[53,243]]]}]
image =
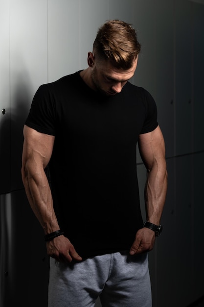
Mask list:
[{"label": "muscular man looking down in black t-shirt and gray sweatpants", "polygon": [[[152,306],[147,252],[161,231],[167,173],[156,104],[128,82],[139,52],[132,26],[109,21],[98,30],[88,68],[34,96],[22,176],[45,231],[49,307],[93,307],[98,296],[103,307]],[[145,224],[137,141],[147,168]]]}]

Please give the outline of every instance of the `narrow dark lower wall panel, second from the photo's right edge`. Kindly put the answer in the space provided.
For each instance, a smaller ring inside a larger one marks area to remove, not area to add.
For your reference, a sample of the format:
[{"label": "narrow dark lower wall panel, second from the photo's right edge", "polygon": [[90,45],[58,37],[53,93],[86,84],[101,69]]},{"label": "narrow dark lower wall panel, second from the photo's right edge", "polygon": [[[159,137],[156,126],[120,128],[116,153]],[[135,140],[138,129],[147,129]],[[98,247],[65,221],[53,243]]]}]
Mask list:
[{"label": "narrow dark lower wall panel, second from the photo's right edge", "polygon": [[[175,294],[178,306],[187,306],[193,299],[192,263],[192,156],[176,158],[176,255]],[[187,226],[187,227],[186,227]],[[187,250],[186,250],[187,247]]]}]

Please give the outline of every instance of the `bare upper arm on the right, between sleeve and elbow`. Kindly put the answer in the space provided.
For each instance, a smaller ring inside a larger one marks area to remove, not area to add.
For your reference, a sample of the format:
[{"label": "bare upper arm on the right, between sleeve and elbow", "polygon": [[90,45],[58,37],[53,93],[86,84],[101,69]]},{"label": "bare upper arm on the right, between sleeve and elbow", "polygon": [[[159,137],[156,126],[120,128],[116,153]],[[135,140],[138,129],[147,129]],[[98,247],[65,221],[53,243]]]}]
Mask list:
[{"label": "bare upper arm on the right, between sleeve and elbow", "polygon": [[152,169],[154,163],[159,164],[165,160],[165,144],[159,126],[151,132],[139,135],[138,148],[148,170]]}]

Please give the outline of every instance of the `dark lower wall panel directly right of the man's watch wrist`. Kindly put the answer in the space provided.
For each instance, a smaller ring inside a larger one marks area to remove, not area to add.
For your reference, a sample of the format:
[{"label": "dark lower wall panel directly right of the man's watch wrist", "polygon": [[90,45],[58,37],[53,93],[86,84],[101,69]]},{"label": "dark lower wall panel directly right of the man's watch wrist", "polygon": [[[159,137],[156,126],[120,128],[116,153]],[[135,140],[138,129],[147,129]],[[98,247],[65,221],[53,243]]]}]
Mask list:
[{"label": "dark lower wall panel directly right of the man's watch wrist", "polygon": [[[176,205],[175,205],[175,159],[167,159],[168,186],[166,203],[161,217],[163,231],[156,240],[155,267],[157,280],[153,307],[176,307]],[[150,266],[150,271],[153,268]],[[167,299],[168,298],[168,299]],[[178,306],[179,307],[179,306]],[[180,306],[181,307],[181,306]]]}]

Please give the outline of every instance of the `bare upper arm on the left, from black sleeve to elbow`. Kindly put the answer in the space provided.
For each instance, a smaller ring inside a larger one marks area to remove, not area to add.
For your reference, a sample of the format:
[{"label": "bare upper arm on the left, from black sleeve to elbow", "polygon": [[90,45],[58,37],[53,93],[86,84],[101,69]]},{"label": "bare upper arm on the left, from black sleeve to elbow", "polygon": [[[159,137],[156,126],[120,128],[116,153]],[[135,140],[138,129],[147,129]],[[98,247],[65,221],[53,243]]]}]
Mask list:
[{"label": "bare upper arm on the left, from black sleeve to elbow", "polygon": [[39,165],[45,168],[52,154],[54,136],[38,132],[28,126],[24,126],[23,136],[23,165],[31,162],[33,166]]}]

